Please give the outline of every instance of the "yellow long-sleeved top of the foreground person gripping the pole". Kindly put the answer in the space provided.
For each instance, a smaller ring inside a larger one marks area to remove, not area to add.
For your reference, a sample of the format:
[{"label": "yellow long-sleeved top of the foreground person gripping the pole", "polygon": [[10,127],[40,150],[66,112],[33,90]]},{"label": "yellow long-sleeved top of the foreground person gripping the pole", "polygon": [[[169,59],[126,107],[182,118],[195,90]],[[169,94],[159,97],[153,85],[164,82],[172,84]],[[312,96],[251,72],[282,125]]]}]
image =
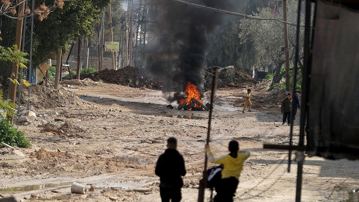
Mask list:
[{"label": "yellow long-sleeved top of the foreground person gripping the pole", "polygon": [[206,149],[206,154],[210,162],[223,165],[222,179],[230,177],[238,179],[241,176],[244,161],[251,155],[250,152],[242,150],[238,151],[237,158],[227,154],[215,159],[210,148]]}]

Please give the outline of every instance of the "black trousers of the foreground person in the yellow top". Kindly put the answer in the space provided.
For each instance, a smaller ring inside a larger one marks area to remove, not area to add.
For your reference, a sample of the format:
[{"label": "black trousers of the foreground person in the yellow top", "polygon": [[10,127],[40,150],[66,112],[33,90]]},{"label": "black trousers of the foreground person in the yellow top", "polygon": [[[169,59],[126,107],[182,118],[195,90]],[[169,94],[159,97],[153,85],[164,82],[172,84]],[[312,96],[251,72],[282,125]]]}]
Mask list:
[{"label": "black trousers of the foreground person in the yellow top", "polygon": [[221,179],[220,187],[214,197],[214,202],[233,202],[233,196],[235,196],[234,193],[236,192],[238,182],[235,177]]}]

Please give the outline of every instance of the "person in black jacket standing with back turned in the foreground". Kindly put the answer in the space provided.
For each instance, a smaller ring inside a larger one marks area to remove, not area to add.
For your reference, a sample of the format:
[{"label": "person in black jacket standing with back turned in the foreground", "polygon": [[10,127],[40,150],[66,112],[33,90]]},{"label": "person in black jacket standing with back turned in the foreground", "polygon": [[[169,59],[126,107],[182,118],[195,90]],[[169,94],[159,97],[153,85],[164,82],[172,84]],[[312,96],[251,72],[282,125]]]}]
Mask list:
[{"label": "person in black jacket standing with back turned in the foreground", "polygon": [[171,202],[179,202],[183,186],[181,176],[186,175],[185,161],[176,150],[176,138],[167,139],[167,148],[157,160],[155,174],[160,179],[159,191],[162,202],[169,202],[169,199],[172,199]]}]

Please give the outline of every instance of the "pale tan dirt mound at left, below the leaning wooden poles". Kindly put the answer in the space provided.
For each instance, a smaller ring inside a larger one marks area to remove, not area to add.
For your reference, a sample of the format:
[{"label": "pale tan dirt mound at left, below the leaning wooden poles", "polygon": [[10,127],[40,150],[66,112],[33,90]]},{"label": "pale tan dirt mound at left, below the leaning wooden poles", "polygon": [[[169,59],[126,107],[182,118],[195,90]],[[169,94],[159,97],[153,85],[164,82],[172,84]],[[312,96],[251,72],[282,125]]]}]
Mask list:
[{"label": "pale tan dirt mound at left, below the leaning wooden poles", "polygon": [[[56,90],[50,86],[31,85],[30,105],[34,109],[53,109],[54,107],[78,107],[89,104],[79,98],[76,93],[59,86]],[[28,88],[22,89],[22,106],[27,106]]]}]

